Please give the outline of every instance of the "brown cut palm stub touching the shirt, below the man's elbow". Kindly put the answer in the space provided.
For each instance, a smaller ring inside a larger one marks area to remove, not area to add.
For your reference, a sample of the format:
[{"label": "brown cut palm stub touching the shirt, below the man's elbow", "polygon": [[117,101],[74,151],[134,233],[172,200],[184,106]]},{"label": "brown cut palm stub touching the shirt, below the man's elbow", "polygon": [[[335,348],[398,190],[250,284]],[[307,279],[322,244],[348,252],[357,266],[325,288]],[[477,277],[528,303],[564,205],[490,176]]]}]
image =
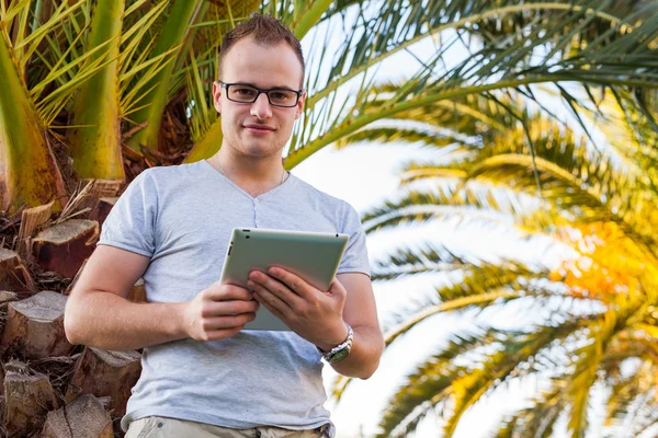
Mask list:
[{"label": "brown cut palm stub touching the shirt, below the man's elbow", "polygon": [[111,351],[86,347],[78,359],[76,371],[65,400],[70,402],[81,394],[110,396],[110,407],[123,416],[131,390],[141,373],[141,355],[137,351]]}]

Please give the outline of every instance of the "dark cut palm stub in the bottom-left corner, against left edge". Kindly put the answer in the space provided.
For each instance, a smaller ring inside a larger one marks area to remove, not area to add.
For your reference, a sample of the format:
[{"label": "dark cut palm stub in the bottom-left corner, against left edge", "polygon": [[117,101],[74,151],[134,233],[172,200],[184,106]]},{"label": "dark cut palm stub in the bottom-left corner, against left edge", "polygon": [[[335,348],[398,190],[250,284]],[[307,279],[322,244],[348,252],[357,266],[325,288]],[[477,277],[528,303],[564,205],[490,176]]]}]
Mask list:
[{"label": "dark cut palm stub in the bottom-left corner, against left edge", "polygon": [[27,436],[48,411],[59,407],[48,377],[12,360],[4,366],[4,427],[8,434]]}]

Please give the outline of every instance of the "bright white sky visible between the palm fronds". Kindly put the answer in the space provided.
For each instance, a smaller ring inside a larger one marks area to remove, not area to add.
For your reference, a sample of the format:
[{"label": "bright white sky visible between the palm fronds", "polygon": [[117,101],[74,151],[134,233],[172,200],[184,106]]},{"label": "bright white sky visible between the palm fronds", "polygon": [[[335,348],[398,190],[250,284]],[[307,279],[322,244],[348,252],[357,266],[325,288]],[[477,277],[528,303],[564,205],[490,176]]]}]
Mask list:
[{"label": "bright white sky visible between the palm fronds", "polygon": [[[340,42],[340,33],[333,35],[336,44]],[[310,36],[303,41],[305,55],[309,47]],[[433,53],[430,41],[411,47],[413,54],[421,59]],[[331,50],[328,50],[331,53]],[[462,54],[463,55],[463,54]],[[451,56],[450,54],[447,55]],[[456,54],[455,56],[460,56]],[[450,59],[449,59],[450,61]],[[325,62],[327,66],[329,62]],[[379,69],[381,78],[408,78],[419,64],[408,53],[399,53],[392,57]],[[564,104],[556,100],[547,100],[546,105],[556,114],[568,113]],[[381,204],[398,189],[399,169],[409,161],[428,159],[435,151],[415,146],[402,145],[362,145],[341,150],[326,147],[292,172],[315,187],[350,203],[361,214]],[[546,266],[555,266],[560,260],[571,255],[564,246],[551,246],[548,242],[520,242],[518,235],[510,231],[509,223],[500,227],[460,227],[454,222],[431,222],[426,226],[407,227],[405,229],[376,232],[367,238],[371,262],[386,255],[392,249],[411,242],[431,241],[445,245],[457,253],[472,253],[490,258],[511,256],[524,262],[537,262]],[[440,279],[439,279],[440,280]],[[435,278],[406,278],[388,283],[375,283],[374,291],[381,322],[387,319],[392,311],[408,302],[412,297],[431,293],[436,286]],[[526,312],[523,307],[509,306],[504,312],[485,313],[479,319],[464,319],[442,314],[421,323],[406,334],[385,353],[379,369],[367,381],[353,381],[341,403],[336,406],[331,402],[327,407],[332,412],[332,420],[338,427],[338,437],[370,437],[374,434],[382,410],[385,407],[392,391],[404,381],[406,373],[413,366],[436,353],[445,345],[451,333],[468,330],[474,322],[491,322],[504,325],[533,322],[537,314]],[[536,322],[536,321],[534,321]],[[336,372],[326,367],[325,382],[327,390],[336,378]],[[454,438],[487,437],[499,424],[502,415],[527,405],[529,397],[542,389],[542,382],[535,378],[514,381],[492,396],[478,402],[462,417]],[[603,391],[594,391],[599,399]],[[595,412],[594,407],[594,412]],[[556,437],[566,437],[566,423],[558,423]],[[429,416],[421,422],[415,437],[440,436],[440,423]],[[600,425],[592,425],[592,436],[600,433]]]}]

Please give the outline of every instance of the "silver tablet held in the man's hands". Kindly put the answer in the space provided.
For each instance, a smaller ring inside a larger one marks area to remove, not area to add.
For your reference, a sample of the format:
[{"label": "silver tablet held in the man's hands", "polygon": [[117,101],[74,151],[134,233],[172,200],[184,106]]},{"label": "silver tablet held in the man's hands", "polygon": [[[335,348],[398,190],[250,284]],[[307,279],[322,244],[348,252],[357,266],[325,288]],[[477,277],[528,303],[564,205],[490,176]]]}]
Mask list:
[{"label": "silver tablet held in the man's hands", "polygon": [[[222,269],[220,284],[247,288],[249,273],[281,266],[319,290],[329,290],[349,235],[262,228],[235,228]],[[261,304],[245,330],[290,330]]]}]

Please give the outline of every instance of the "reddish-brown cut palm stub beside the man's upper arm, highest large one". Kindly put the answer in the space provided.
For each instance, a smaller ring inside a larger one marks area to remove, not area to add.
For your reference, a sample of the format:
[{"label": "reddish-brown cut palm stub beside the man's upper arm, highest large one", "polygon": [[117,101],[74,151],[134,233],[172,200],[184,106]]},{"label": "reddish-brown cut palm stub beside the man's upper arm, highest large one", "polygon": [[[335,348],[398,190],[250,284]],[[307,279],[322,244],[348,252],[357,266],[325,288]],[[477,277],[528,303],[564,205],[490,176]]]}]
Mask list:
[{"label": "reddish-brown cut palm stub beside the man's upper arm, highest large one", "polygon": [[32,251],[44,269],[73,278],[93,252],[98,237],[95,220],[69,219],[39,232],[32,241]]}]

